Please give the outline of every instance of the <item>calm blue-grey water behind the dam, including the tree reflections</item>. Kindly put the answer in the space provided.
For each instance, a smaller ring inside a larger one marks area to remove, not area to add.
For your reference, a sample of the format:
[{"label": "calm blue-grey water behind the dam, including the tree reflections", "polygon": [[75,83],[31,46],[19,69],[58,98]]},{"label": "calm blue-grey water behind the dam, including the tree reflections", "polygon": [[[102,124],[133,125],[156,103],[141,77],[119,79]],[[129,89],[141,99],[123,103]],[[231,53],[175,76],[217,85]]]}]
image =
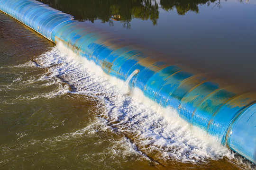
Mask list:
[{"label": "calm blue-grey water behind the dam, including the tree reflections", "polygon": [[140,46],[256,87],[256,0],[41,0]]}]

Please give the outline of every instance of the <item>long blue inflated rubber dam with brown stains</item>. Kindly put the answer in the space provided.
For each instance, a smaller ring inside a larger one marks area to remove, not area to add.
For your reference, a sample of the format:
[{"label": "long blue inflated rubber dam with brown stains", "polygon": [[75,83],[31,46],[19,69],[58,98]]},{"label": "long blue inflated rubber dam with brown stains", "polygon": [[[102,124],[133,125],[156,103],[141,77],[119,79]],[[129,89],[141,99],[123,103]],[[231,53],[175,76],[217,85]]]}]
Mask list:
[{"label": "long blue inflated rubber dam with brown stains", "polygon": [[36,0],[0,0],[0,10],[54,43],[62,42],[93,60],[110,76],[137,87],[163,107],[219,138],[256,163],[256,92],[228,85],[208,74],[161,61],[127,42]]}]

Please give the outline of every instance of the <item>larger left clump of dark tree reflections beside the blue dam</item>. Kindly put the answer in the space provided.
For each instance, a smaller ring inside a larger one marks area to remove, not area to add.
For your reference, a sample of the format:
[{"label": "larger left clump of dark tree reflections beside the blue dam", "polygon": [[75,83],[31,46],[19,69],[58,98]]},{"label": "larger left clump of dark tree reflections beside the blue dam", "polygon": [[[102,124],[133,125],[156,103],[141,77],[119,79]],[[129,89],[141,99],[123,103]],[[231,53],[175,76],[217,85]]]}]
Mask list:
[{"label": "larger left clump of dark tree reflections beside the blue dam", "polygon": [[72,14],[78,20],[96,19],[101,22],[113,20],[124,23],[130,28],[132,18],[142,20],[150,19],[155,25],[159,17],[159,7],[155,0],[39,0],[53,8]]}]

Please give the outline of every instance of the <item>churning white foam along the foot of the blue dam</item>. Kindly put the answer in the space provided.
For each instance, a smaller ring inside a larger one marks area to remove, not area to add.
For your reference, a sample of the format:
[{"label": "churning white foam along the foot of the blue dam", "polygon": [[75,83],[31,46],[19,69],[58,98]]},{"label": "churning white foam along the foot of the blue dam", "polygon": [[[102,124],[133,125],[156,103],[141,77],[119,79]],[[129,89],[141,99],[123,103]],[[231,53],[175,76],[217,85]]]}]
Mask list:
[{"label": "churning white foam along the foot of the blue dam", "polygon": [[[66,86],[47,94],[48,97],[74,93],[98,98],[105,108],[98,116],[104,120],[106,128],[111,127],[131,139],[126,141],[132,143],[133,151],[157,154],[150,157],[162,162],[195,163],[227,157],[242,168],[251,168],[248,161],[241,161],[242,158],[236,157],[215,138],[189,125],[175,110],[160,107],[138,89],[125,95],[120,90],[125,82],[105,74],[94,62],[77,56],[63,44],[58,44],[36,62],[40,67],[48,68],[40,79],[66,82]],[[81,135],[87,128],[64,136]]]}]

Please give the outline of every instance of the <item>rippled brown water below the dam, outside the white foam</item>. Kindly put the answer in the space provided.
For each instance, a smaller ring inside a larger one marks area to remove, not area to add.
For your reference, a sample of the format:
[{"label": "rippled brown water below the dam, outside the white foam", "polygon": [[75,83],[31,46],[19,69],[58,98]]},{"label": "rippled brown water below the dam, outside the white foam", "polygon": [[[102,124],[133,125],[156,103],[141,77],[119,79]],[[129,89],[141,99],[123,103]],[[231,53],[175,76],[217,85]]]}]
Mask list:
[{"label": "rippled brown water below the dam, outside the white foam", "polygon": [[[49,68],[37,67],[34,61],[53,46],[0,12],[1,169],[236,170],[243,167],[227,157],[199,163],[174,159],[160,165],[145,155],[123,154],[127,144],[120,143],[127,135],[103,131],[105,124],[92,127],[99,131],[96,134],[82,131],[76,137],[66,135],[97,122],[105,108],[99,99],[89,95],[66,93],[45,97],[66,85],[63,81],[51,85],[47,81],[35,81]],[[27,62],[35,67],[27,67]],[[116,154],[110,154],[113,148],[118,151]]]}]

